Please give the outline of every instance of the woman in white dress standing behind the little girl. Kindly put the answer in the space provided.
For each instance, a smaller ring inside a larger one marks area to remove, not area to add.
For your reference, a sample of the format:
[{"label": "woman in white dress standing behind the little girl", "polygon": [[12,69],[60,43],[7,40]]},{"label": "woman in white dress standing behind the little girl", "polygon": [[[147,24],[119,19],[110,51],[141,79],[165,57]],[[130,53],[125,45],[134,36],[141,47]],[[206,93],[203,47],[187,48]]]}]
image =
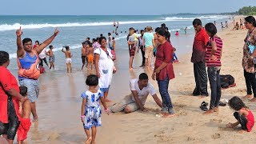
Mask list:
[{"label": "woman in white dress standing behind the little girl", "polygon": [[116,72],[114,62],[112,60],[111,50],[106,47],[107,42],[105,37],[99,38],[101,46],[94,50],[95,70],[98,76],[98,86],[104,93],[106,102],[111,102],[107,99],[110,89],[112,75]]}]

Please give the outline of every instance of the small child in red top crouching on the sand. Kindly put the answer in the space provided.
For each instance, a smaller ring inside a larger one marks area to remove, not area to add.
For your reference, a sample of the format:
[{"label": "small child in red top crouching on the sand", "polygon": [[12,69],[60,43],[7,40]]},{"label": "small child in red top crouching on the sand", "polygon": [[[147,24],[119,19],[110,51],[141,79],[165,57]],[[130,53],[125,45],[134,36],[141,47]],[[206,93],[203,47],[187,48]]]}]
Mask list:
[{"label": "small child in red top crouching on the sand", "polygon": [[229,100],[229,106],[231,109],[236,110],[236,112],[234,112],[234,118],[236,118],[238,122],[228,123],[226,127],[234,128],[238,126],[238,124],[241,124],[242,130],[239,131],[240,133],[246,131],[250,132],[254,127],[254,114],[251,110],[238,97],[231,98]]}]

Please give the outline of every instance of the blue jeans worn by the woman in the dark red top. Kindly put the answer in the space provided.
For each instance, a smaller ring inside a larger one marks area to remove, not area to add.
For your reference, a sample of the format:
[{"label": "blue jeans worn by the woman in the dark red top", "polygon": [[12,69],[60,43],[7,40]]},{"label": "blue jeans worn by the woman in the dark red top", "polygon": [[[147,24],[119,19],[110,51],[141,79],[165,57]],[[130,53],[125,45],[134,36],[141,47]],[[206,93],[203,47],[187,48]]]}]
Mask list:
[{"label": "blue jeans worn by the woman in the dark red top", "polygon": [[169,86],[169,78],[167,75],[164,80],[158,80],[159,92],[162,98],[162,106],[163,108],[167,107],[168,112],[170,114],[174,114],[173,105],[171,103],[170,94],[168,92],[168,86]]}]

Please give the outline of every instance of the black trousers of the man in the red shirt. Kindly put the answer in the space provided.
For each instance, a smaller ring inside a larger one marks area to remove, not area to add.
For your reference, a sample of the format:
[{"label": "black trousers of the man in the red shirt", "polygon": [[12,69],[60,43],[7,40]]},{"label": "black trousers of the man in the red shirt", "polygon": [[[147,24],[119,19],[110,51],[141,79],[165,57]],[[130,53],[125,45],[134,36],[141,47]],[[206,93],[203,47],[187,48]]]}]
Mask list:
[{"label": "black trousers of the man in the red shirt", "polygon": [[207,74],[206,74],[206,63],[205,62],[197,62],[194,63],[194,80],[195,80],[195,88],[193,95],[206,95],[207,92]]}]

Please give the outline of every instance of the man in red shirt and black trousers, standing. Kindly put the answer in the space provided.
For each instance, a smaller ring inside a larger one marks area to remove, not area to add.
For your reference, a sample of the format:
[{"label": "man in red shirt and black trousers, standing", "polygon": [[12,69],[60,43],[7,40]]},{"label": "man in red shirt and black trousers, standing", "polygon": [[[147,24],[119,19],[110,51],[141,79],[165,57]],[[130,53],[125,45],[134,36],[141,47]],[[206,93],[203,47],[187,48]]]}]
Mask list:
[{"label": "man in red shirt and black trousers, standing", "polygon": [[206,34],[206,30],[202,27],[202,22],[200,19],[195,18],[193,21],[193,26],[194,30],[196,31],[191,57],[191,62],[194,63],[194,79],[196,83],[193,95],[208,96],[205,57],[206,45],[209,41],[209,36]]}]

